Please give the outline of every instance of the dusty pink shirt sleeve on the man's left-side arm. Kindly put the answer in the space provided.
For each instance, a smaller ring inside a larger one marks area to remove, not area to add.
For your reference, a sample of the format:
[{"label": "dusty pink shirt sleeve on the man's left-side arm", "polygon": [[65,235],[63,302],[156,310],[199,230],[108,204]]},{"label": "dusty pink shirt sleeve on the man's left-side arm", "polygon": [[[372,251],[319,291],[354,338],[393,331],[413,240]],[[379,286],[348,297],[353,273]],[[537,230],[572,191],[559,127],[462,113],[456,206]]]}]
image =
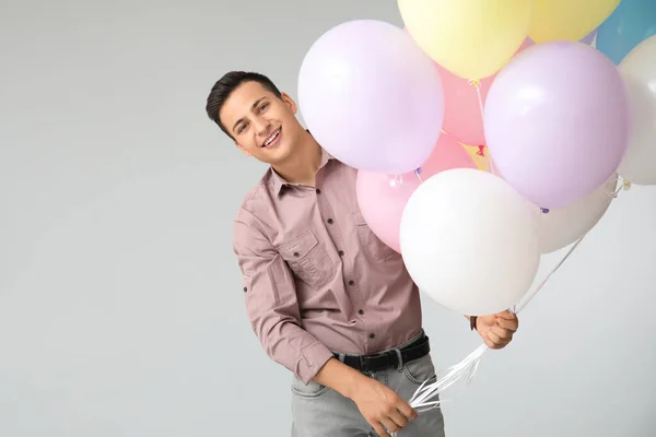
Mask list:
[{"label": "dusty pink shirt sleeve on the man's left-side arm", "polygon": [[265,352],[308,383],[332,353],[302,328],[292,272],[258,220],[245,210],[234,222],[233,250],[244,280],[248,319]]}]

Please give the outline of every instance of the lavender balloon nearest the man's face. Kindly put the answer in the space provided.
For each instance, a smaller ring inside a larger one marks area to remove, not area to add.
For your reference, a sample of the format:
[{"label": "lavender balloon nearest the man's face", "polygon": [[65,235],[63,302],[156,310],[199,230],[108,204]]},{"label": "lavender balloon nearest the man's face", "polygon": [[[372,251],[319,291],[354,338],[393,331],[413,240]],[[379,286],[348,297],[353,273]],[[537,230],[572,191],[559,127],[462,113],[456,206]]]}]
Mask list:
[{"label": "lavender balloon nearest the man's face", "polygon": [[298,75],[305,123],[332,156],[354,168],[405,174],[440,138],[440,72],[403,29],[358,20],[314,43]]}]

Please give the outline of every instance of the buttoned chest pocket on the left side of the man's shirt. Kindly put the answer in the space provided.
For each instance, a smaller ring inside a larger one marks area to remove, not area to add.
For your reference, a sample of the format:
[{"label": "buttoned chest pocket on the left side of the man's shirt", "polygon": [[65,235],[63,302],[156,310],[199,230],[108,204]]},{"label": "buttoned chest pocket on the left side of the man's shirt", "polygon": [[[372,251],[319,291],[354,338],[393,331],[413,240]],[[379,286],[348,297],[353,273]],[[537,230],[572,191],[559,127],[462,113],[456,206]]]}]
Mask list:
[{"label": "buttoned chest pocket on the left side of the man's shirt", "polygon": [[294,275],[312,287],[321,287],[335,276],[335,263],[312,229],[281,244],[278,251]]}]

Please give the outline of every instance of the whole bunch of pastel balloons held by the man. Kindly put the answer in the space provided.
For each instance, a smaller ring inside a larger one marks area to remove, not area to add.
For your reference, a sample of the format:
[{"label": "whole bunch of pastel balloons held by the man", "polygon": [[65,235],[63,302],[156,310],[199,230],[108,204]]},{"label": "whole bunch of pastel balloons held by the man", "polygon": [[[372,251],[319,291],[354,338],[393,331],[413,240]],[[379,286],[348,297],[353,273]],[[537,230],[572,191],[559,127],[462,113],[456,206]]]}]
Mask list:
[{"label": "whole bunch of pastel balloons held by the man", "polygon": [[301,113],[359,170],[364,218],[420,290],[467,315],[511,308],[619,177],[656,185],[656,1],[398,8],[405,28],[350,21],[313,44]]}]

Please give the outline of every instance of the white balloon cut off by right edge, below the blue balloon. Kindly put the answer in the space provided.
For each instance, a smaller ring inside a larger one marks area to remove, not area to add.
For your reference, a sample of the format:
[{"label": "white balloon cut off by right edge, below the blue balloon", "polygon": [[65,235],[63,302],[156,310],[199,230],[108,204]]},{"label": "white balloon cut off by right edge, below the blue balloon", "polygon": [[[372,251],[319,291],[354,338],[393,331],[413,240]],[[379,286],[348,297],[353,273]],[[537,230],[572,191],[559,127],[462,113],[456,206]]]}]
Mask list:
[{"label": "white balloon cut off by right edge, below the blue balloon", "polygon": [[626,83],[633,128],[618,173],[636,185],[656,185],[656,35],[619,64]]}]

